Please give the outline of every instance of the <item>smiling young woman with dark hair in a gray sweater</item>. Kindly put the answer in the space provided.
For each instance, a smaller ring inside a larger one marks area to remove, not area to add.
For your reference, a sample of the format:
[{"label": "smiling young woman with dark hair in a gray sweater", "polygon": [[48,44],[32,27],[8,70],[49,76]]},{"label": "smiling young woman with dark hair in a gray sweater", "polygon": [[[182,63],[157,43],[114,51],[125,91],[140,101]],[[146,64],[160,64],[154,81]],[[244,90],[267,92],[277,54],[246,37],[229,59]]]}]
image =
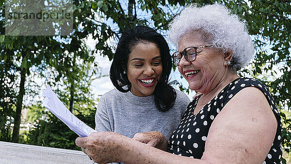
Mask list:
[{"label": "smiling young woman with dark hair in a gray sweater", "polygon": [[174,131],[189,98],[169,84],[172,60],[163,36],[137,26],[118,42],[110,79],[116,89],[104,94],[96,112],[96,130],[132,138],[137,132]]}]

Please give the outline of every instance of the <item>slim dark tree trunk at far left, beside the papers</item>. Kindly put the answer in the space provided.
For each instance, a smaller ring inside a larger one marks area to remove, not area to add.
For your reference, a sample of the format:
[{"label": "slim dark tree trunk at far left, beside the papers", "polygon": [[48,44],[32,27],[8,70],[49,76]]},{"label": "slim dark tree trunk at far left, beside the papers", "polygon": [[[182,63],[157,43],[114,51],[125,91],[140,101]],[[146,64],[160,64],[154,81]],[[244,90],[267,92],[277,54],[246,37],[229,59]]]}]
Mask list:
[{"label": "slim dark tree trunk at far left, beside the papers", "polygon": [[16,114],[14,117],[14,128],[12,133],[12,142],[18,142],[19,140],[19,127],[21,120],[21,111],[22,111],[22,101],[25,93],[24,83],[26,78],[26,68],[22,67],[20,72],[20,85],[19,85],[19,95],[17,97],[16,103]]}]

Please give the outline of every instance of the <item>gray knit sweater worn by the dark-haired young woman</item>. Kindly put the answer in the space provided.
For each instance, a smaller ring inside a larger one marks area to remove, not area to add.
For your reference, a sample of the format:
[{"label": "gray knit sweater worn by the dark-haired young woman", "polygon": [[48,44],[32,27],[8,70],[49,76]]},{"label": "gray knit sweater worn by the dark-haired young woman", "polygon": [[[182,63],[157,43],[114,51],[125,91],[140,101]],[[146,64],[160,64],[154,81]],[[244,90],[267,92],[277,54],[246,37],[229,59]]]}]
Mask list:
[{"label": "gray knit sweater worn by the dark-haired young woman", "polygon": [[131,92],[113,89],[104,94],[95,115],[96,131],[114,131],[132,138],[137,132],[160,131],[167,139],[177,128],[190,100],[176,90],[177,98],[171,109],[160,112],[154,96],[137,97]]}]

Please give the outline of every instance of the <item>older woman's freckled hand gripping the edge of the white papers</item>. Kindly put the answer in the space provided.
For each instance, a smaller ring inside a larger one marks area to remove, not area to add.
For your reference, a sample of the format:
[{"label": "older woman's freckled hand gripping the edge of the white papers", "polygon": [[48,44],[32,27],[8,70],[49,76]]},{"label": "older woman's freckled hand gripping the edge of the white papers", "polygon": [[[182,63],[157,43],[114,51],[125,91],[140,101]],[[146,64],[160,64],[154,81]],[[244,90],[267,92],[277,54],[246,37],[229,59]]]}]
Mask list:
[{"label": "older woman's freckled hand gripping the edge of the white papers", "polygon": [[120,162],[123,140],[129,139],[111,131],[93,132],[88,137],[78,137],[76,145],[98,164]]}]

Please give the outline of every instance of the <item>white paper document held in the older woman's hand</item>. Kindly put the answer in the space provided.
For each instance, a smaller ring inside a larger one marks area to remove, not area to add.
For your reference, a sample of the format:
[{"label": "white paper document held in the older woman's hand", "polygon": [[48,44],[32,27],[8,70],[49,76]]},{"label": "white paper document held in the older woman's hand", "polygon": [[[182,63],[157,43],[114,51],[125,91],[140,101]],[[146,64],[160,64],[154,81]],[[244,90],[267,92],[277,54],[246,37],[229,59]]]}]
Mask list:
[{"label": "white paper document held in the older woman's hand", "polygon": [[45,98],[43,105],[79,136],[86,137],[92,132],[97,132],[73,115],[51,90],[50,86],[47,87],[42,96]]}]

